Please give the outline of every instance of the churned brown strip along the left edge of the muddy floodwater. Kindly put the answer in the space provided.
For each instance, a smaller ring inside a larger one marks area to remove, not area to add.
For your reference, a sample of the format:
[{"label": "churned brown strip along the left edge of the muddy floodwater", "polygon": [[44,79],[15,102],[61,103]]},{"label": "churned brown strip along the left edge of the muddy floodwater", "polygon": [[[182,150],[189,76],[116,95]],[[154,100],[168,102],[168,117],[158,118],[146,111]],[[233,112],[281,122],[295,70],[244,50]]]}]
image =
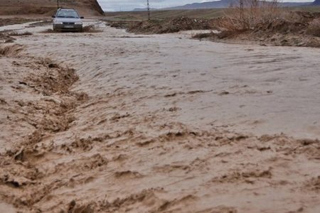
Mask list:
[{"label": "churned brown strip along the left edge of the muddy floodwater", "polygon": [[22,187],[41,178],[36,159],[48,151],[43,138],[68,129],[73,109],[87,96],[69,91],[78,80],[75,70],[25,55],[23,48],[0,45],[0,200],[25,212],[32,202]]}]

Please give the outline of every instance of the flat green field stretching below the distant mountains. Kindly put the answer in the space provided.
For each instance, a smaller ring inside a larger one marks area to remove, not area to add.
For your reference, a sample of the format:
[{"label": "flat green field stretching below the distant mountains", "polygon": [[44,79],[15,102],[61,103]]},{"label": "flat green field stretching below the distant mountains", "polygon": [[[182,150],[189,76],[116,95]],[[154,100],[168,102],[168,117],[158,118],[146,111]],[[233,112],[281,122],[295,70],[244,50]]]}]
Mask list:
[{"label": "flat green field stretching below the distant mountains", "polygon": [[[305,6],[305,7],[292,7],[284,8],[287,11],[309,11],[320,12],[320,6]],[[189,17],[189,18],[218,18],[225,14],[228,9],[196,9],[196,10],[170,10],[170,11],[151,11],[151,18],[176,18],[176,17]],[[105,19],[110,21],[134,21],[146,20],[146,11],[125,11],[125,12],[106,12]]]}]

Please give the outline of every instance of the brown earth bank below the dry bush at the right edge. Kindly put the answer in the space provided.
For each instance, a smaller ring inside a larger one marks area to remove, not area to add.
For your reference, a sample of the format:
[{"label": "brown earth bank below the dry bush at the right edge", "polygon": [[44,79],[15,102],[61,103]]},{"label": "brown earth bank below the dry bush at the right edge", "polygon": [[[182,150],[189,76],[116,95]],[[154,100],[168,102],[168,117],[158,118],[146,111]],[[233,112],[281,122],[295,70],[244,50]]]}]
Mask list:
[{"label": "brown earth bank below the dry bush at the right edge", "polygon": [[227,30],[201,33],[193,38],[207,38],[227,43],[252,42],[260,45],[320,47],[320,13],[291,12],[286,18],[260,24],[252,30]]}]

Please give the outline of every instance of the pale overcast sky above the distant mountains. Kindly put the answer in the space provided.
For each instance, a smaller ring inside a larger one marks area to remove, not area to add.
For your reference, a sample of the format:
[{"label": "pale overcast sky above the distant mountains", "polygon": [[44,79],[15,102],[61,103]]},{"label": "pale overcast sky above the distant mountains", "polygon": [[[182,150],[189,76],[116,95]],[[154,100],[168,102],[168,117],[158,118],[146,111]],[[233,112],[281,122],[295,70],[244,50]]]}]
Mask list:
[{"label": "pale overcast sky above the distant mountains", "polygon": [[[146,0],[97,0],[105,11],[131,11],[135,8],[146,8]],[[149,0],[151,8],[166,8],[181,6],[205,0]],[[213,0],[207,0],[213,1]],[[312,1],[312,0],[283,0],[283,1]]]}]

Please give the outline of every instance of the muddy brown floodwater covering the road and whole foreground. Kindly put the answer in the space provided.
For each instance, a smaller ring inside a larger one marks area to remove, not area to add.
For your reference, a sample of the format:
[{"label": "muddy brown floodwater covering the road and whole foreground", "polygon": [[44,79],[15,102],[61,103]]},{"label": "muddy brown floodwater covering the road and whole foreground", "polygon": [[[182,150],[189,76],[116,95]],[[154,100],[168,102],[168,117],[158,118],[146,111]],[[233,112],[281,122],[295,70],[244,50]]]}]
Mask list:
[{"label": "muddy brown floodwater covering the road and whole foreground", "polygon": [[319,49],[96,24],[2,51],[0,210],[320,211]]}]

